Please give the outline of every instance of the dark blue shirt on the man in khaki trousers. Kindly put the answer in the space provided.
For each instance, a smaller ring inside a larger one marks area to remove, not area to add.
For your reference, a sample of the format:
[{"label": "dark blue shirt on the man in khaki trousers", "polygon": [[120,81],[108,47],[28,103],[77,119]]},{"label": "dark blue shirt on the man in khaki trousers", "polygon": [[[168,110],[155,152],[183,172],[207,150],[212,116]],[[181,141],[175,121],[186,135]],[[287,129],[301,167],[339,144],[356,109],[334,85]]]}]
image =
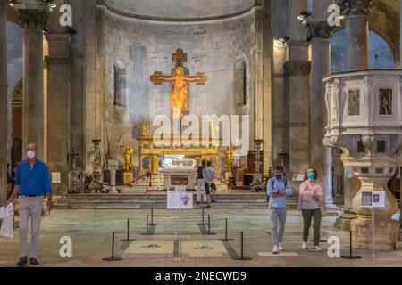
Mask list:
[{"label": "dark blue shirt on the man in khaki trousers", "polygon": [[29,166],[28,160],[18,164],[15,184],[20,186],[19,195],[40,196],[52,191],[49,169],[45,162],[38,159],[32,168]]}]

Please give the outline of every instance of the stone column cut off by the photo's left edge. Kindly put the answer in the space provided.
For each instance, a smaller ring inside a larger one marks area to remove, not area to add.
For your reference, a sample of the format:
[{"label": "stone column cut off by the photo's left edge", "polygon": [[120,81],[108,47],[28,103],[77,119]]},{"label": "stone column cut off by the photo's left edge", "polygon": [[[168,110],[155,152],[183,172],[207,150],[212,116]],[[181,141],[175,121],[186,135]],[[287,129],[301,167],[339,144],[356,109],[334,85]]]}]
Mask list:
[{"label": "stone column cut off by the photo's left edge", "polygon": [[0,0],[0,202],[7,199],[7,6],[8,1]]}]

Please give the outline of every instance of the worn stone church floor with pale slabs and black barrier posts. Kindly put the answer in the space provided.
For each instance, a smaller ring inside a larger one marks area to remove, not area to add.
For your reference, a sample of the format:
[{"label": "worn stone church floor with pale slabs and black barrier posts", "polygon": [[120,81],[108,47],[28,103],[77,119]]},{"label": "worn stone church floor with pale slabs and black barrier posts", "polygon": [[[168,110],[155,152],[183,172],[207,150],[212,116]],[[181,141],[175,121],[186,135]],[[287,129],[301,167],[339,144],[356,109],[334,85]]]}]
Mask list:
[{"label": "worn stone church floor with pale slabs and black barrier posts", "polygon": [[[322,252],[313,250],[312,242],[301,249],[302,219],[297,211],[289,211],[284,238],[285,250],[272,255],[269,213],[265,209],[205,210],[202,225],[201,210],[155,210],[153,223],[148,226],[148,210],[54,210],[44,217],[41,227],[39,262],[42,266],[402,266],[402,250],[354,250],[358,260],[330,258],[327,242]],[[208,234],[207,215],[210,215]],[[127,238],[130,219],[130,239]],[[224,239],[225,219],[228,236]],[[148,217],[151,223],[151,217]],[[201,224],[201,225],[200,225]],[[333,227],[334,217],[322,222],[322,240],[339,237],[341,255],[348,255],[349,232]],[[235,260],[240,255],[240,232],[244,232],[244,256],[251,260]],[[121,261],[107,262],[112,256],[112,232],[115,232],[114,256]],[[181,232],[181,234],[179,234]],[[72,240],[72,257],[60,256],[62,237]],[[18,229],[13,240],[0,238],[0,266],[14,266],[19,256]]]}]

